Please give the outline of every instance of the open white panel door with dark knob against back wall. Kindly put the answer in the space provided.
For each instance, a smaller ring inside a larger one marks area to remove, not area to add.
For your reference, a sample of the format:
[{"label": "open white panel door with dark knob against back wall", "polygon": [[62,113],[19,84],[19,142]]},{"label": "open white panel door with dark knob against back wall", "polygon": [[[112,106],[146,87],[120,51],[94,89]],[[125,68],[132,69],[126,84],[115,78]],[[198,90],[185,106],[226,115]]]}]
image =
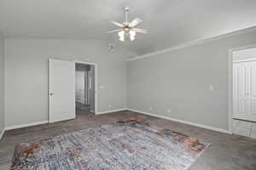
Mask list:
[{"label": "open white panel door with dark knob against back wall", "polygon": [[75,118],[75,63],[49,59],[49,122]]}]

